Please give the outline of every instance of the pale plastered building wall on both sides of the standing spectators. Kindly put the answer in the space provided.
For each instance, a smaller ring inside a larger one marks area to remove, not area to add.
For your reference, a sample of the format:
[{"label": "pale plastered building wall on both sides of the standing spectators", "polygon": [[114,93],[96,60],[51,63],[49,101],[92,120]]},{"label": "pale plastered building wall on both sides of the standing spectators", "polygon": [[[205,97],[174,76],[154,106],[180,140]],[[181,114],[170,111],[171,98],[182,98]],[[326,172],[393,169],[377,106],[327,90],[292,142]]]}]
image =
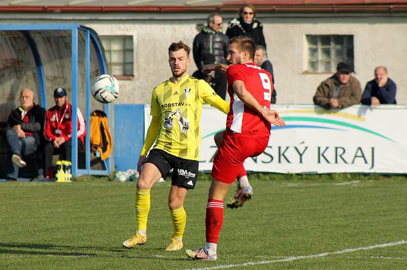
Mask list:
[{"label": "pale plastered building wall on both sides of the standing spectators", "polygon": [[[63,14],[60,16],[64,16]],[[66,15],[65,15],[66,16]],[[136,15],[133,15],[136,16]],[[116,103],[149,103],[154,86],[171,76],[168,67],[169,44],[183,40],[190,46],[198,33],[196,25],[203,23],[204,14],[194,18],[171,19],[53,19],[53,20],[0,20],[0,23],[56,23],[74,22],[89,26],[99,35],[133,35],[134,79],[121,80],[121,96]],[[180,15],[177,15],[180,16]],[[231,14],[225,16],[224,26]],[[279,15],[259,19],[264,24],[268,54],[274,67],[277,103],[311,104],[318,84],[331,74],[307,74],[305,35],[354,35],[355,77],[362,89],[373,78],[373,69],[384,65],[388,68],[398,88],[398,104],[407,104],[407,21],[405,15],[391,16],[348,14]],[[95,16],[94,16],[95,17]],[[123,16],[122,16],[123,17]],[[192,57],[192,55],[191,55]],[[196,70],[191,61],[188,72]]]}]

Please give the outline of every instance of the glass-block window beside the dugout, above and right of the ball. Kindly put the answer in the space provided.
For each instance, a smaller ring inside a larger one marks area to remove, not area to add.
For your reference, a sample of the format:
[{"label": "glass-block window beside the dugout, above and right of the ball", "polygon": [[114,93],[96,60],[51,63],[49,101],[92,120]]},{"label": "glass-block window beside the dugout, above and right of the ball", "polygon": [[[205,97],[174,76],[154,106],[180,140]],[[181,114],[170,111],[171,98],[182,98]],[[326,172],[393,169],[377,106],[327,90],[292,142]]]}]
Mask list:
[{"label": "glass-block window beside the dugout, above and right of the ball", "polygon": [[133,76],[133,36],[100,36],[113,76]]}]

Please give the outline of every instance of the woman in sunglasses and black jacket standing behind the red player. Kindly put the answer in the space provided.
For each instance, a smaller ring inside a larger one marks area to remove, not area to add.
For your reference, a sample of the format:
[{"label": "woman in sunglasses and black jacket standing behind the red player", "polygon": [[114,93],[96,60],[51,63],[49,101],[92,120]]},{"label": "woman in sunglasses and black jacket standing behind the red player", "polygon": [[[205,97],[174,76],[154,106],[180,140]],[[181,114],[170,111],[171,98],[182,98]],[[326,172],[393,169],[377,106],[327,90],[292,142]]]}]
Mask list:
[{"label": "woman in sunglasses and black jacket standing behind the red player", "polygon": [[263,35],[263,25],[255,19],[256,11],[253,5],[244,4],[239,10],[239,18],[232,19],[226,30],[229,39],[233,37],[246,36],[254,41],[255,45],[266,46],[266,40]]}]

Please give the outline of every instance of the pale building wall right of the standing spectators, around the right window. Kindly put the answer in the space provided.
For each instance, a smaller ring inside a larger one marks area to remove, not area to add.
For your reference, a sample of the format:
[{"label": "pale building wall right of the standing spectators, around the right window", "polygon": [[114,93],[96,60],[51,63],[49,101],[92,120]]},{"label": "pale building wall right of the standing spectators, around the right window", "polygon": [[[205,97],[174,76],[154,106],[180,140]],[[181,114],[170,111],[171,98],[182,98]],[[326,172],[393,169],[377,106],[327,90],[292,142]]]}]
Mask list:
[{"label": "pale building wall right of the standing spectators, around the right window", "polygon": [[397,84],[398,104],[407,103],[407,23],[405,18],[264,18],[268,55],[276,79],[277,103],[312,103],[321,81],[331,74],[307,74],[305,35],[353,35],[354,76],[362,90],[376,66],[386,66]]}]

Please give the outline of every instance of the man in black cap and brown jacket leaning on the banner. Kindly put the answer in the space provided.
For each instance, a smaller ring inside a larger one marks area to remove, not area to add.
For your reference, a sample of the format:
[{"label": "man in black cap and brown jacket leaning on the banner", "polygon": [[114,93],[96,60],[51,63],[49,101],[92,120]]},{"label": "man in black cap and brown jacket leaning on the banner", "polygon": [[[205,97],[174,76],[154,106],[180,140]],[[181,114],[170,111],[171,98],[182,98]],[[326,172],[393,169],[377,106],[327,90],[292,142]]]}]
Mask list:
[{"label": "man in black cap and brown jacket leaning on the banner", "polygon": [[323,81],[314,96],[314,104],[330,108],[346,108],[359,104],[362,88],[358,79],[351,75],[351,66],[339,63],[337,72]]}]

